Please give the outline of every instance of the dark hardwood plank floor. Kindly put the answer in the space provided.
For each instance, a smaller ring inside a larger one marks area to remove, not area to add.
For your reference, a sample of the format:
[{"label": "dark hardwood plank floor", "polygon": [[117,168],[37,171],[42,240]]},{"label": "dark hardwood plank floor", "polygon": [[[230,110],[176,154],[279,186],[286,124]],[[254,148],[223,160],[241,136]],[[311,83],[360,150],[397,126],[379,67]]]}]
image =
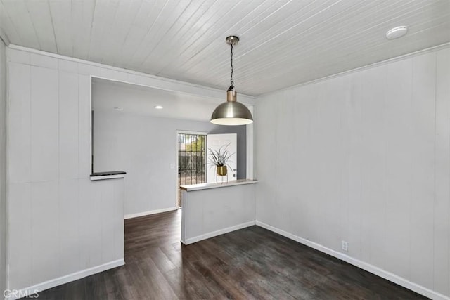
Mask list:
[{"label": "dark hardwood plank floor", "polygon": [[125,221],[125,266],[39,299],[425,299],[257,226],[182,246],[180,219]]}]

